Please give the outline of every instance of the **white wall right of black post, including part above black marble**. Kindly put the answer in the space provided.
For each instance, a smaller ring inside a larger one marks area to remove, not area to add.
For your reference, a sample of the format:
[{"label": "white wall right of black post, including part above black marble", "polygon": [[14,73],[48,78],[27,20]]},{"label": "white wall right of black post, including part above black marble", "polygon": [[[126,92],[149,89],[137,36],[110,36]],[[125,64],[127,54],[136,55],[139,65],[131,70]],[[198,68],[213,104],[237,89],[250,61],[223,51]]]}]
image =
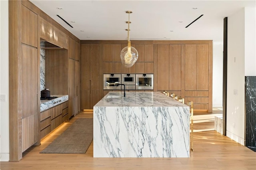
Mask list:
[{"label": "white wall right of black post, including part above black marble", "polygon": [[228,16],[226,134],[243,145],[245,135],[244,79],[246,74],[256,75],[255,23],[255,8],[244,8]]}]

